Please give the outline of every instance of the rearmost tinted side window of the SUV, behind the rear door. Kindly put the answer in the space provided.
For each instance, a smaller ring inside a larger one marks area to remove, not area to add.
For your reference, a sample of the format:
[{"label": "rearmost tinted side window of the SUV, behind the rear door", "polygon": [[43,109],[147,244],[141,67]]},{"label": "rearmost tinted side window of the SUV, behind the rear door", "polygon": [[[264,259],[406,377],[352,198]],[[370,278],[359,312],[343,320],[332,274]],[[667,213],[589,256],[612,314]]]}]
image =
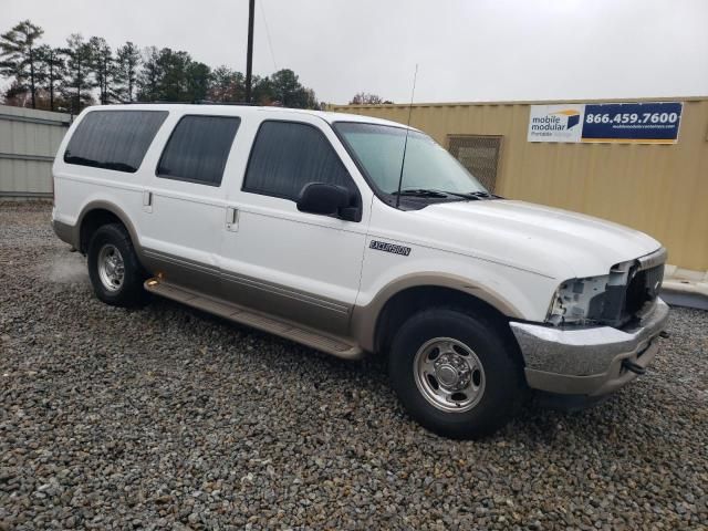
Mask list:
[{"label": "rearmost tinted side window of the SUV, behind the rear door", "polygon": [[93,111],[69,140],[64,162],[134,174],[166,117],[166,111]]}]

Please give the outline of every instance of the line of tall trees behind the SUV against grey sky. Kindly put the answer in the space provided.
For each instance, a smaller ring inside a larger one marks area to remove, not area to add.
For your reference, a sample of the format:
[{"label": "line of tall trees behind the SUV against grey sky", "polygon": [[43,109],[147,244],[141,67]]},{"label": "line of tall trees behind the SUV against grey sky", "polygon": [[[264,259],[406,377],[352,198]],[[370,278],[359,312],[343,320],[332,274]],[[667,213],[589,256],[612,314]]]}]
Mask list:
[{"label": "line of tall trees behind the SUV against grey sky", "polygon": [[[74,33],[64,46],[41,42],[44,30],[25,20],[0,35],[0,77],[8,105],[79,113],[87,105],[129,102],[246,100],[246,76],[228,66],[211,69],[169,48],[140,50],[126,42],[113,50],[105,39]],[[320,108],[312,88],[289,69],[252,80],[252,103]]]}]

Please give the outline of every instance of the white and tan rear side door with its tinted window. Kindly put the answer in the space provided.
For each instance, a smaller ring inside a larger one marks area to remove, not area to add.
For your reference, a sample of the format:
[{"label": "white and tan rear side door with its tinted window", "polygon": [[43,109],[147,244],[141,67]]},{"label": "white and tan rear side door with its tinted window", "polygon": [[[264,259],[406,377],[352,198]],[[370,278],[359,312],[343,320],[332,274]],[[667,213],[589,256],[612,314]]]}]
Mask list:
[{"label": "white and tan rear side door with its tinted window", "polygon": [[208,294],[220,290],[229,155],[238,116],[185,114],[166,128],[164,149],[154,154],[154,174],[143,194],[144,254],[165,280]]}]

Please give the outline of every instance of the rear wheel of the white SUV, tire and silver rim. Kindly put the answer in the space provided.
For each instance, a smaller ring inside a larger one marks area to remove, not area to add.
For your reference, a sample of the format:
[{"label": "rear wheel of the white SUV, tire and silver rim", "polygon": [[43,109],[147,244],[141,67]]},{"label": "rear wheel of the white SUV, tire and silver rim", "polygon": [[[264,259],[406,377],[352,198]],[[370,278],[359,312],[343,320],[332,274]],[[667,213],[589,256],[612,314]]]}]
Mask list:
[{"label": "rear wheel of the white SUV, tire and silver rim", "polygon": [[148,301],[147,273],[137,259],[125,227],[100,227],[88,242],[88,277],[96,296],[114,306],[136,308]]}]

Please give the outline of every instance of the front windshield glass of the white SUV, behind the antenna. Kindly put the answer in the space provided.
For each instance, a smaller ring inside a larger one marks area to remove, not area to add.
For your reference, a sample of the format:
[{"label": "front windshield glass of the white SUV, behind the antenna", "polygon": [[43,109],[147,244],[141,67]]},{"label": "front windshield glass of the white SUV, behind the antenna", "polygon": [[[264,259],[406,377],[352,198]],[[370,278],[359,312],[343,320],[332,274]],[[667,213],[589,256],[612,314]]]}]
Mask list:
[{"label": "front windshield glass of the white SUV, behind the antenna", "polygon": [[[398,190],[406,129],[388,125],[337,122],[334,128],[385,194]],[[408,132],[402,190],[427,189],[458,194],[487,192],[465,167],[427,135]]]}]

